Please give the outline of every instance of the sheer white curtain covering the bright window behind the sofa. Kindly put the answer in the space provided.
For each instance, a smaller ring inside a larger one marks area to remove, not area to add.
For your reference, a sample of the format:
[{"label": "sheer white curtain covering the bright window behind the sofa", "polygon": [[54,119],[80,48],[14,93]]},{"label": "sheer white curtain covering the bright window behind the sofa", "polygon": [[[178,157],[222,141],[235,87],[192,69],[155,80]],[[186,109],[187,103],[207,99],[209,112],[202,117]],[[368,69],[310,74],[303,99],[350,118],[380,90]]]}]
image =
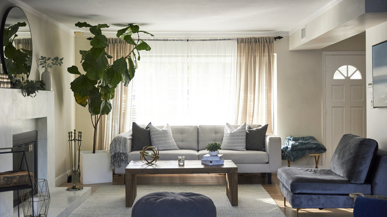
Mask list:
[{"label": "sheer white curtain covering the bright window behind the sofa", "polygon": [[132,80],[131,121],[156,125],[234,122],[236,40],[147,43],[152,49],[141,53]]}]

